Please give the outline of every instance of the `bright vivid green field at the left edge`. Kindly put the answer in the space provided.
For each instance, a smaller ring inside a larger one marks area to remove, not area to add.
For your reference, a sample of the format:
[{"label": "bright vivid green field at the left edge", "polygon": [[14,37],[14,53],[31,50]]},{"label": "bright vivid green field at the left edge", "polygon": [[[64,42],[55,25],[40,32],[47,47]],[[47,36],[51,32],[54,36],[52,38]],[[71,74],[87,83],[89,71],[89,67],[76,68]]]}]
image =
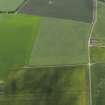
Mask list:
[{"label": "bright vivid green field at the left edge", "polygon": [[39,20],[27,15],[0,15],[0,79],[12,67],[28,63]]}]

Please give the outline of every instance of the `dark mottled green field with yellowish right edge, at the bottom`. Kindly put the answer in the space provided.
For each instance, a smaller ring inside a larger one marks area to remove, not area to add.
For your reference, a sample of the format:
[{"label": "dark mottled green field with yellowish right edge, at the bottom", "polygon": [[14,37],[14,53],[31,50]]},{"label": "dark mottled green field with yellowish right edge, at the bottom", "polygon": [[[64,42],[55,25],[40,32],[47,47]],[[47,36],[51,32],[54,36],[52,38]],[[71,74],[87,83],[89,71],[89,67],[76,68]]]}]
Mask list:
[{"label": "dark mottled green field with yellowish right edge, at the bottom", "polygon": [[8,105],[88,105],[87,70],[86,66],[16,69],[8,76],[2,100],[14,100]]}]

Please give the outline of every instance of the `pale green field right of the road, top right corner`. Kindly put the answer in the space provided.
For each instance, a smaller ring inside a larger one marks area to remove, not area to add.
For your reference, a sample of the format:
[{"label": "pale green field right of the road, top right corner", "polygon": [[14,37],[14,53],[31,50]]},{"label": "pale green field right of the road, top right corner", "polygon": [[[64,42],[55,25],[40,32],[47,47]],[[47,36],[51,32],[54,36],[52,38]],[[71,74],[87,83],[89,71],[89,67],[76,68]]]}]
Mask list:
[{"label": "pale green field right of the road, top right corner", "polygon": [[98,1],[98,17],[92,36],[96,39],[105,41],[105,3]]}]

